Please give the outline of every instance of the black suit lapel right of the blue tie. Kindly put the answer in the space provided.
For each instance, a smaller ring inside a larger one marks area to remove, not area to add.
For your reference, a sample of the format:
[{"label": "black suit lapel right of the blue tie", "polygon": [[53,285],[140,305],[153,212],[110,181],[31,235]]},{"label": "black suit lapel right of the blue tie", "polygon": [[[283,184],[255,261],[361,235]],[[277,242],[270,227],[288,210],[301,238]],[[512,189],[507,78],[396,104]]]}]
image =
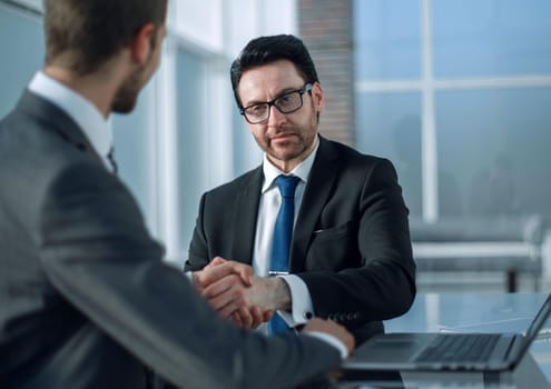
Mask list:
[{"label": "black suit lapel right of the blue tie", "polygon": [[332,143],[319,137],[319,148],[309,172],[291,246],[289,270],[304,270],[304,259],[331,188],[337,177],[337,154]]}]

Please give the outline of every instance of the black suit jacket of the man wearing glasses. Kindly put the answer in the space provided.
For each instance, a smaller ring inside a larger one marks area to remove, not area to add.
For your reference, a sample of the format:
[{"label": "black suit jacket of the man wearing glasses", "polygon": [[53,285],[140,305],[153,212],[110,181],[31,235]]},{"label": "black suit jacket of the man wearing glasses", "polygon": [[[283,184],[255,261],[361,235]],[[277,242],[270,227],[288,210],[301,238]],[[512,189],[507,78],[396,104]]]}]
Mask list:
[{"label": "black suit jacket of the man wearing glasses", "polygon": [[[215,256],[252,262],[263,184],[258,167],[205,193],[186,270]],[[317,316],[362,342],[415,296],[407,209],[392,163],[324,138],[304,191],[289,270],[306,283]],[[378,325],[378,326],[377,326]]]}]

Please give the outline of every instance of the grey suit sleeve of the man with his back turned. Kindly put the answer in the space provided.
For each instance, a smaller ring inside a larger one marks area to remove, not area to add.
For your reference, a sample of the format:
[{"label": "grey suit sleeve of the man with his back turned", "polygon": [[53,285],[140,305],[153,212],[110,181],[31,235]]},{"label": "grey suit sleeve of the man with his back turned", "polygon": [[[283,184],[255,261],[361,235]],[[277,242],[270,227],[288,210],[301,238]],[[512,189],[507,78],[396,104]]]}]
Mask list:
[{"label": "grey suit sleeve of the man with his back turned", "polygon": [[53,180],[37,236],[56,290],[174,385],[286,388],[340,362],[312,337],[266,338],[218,319],[161,261],[128,190],[100,166],[72,166]]}]

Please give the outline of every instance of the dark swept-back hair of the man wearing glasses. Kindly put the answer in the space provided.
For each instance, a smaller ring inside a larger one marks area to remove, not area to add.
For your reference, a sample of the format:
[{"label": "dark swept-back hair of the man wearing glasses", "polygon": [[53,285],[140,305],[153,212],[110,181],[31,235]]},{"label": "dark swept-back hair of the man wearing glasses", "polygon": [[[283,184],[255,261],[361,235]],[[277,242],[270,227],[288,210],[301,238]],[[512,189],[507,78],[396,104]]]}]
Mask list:
[{"label": "dark swept-back hair of the man wearing glasses", "polygon": [[255,38],[245,46],[229,70],[235,101],[239,108],[243,107],[237,88],[243,73],[248,69],[281,59],[293,62],[305,82],[319,82],[314,61],[312,61],[308,49],[301,39],[291,34]]}]

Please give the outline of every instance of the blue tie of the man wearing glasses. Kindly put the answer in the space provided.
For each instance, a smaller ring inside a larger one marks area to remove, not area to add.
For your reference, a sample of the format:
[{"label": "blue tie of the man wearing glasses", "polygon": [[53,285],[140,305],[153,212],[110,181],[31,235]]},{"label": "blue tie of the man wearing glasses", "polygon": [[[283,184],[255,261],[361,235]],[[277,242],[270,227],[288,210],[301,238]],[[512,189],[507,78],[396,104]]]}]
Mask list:
[{"label": "blue tie of the man wearing glasses", "polygon": [[[278,176],[275,179],[282,193],[282,206],[277,213],[274,228],[274,242],[272,243],[272,271],[288,271],[291,237],[293,236],[293,221],[295,217],[295,189],[301,179],[294,176]],[[288,331],[289,328],[277,313],[269,321],[269,333]]]}]

